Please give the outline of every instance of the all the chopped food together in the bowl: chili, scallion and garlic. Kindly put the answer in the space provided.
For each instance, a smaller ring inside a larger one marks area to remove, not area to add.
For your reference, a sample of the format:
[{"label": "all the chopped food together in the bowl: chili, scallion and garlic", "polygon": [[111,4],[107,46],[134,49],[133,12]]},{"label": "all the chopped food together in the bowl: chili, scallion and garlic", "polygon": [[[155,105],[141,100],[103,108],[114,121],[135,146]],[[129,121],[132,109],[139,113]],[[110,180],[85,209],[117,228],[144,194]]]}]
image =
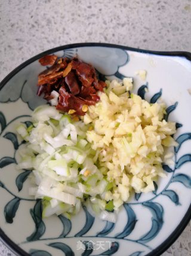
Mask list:
[{"label": "all the chopped food together in the bowl: chili, scallion and garlic", "polygon": [[[115,222],[133,192],[153,191],[158,177],[165,177],[162,161],[172,155],[164,158],[164,149],[177,146],[175,123],[164,120],[164,103],[131,92],[131,78],[104,83],[78,59],[53,55],[40,62],[53,66],[39,74],[38,95],[44,92],[54,106],[39,106],[32,125],[17,128],[26,141],[19,168],[32,170],[29,194],[42,199],[44,217],[70,218],[83,203],[91,214]],[[75,82],[68,82],[70,76]]]}]

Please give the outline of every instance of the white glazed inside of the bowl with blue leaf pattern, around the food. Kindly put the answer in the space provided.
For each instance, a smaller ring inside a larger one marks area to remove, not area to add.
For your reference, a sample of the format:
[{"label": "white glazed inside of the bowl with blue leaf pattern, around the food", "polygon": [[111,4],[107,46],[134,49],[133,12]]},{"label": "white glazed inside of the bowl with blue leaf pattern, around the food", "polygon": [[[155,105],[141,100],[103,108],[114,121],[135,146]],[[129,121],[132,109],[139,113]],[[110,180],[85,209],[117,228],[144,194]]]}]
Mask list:
[{"label": "white glazed inside of the bowl with blue leaf pattern, around the food", "polygon": [[[177,238],[191,209],[191,56],[189,53],[148,53],[106,44],[78,44],[48,52],[92,64],[105,79],[133,77],[133,92],[150,103],[167,104],[166,120],[177,123],[174,164],[164,165],[166,178],[155,191],[135,194],[122,206],[115,224],[101,221],[82,207],[72,220],[64,216],[42,219],[41,200],[28,195],[29,170],[17,169],[16,134],[20,122],[30,125],[32,110],[45,101],[36,96],[35,58],[22,64],[1,83],[0,91],[0,234],[19,255],[73,256],[159,255]],[[146,81],[135,75],[146,70]]]}]

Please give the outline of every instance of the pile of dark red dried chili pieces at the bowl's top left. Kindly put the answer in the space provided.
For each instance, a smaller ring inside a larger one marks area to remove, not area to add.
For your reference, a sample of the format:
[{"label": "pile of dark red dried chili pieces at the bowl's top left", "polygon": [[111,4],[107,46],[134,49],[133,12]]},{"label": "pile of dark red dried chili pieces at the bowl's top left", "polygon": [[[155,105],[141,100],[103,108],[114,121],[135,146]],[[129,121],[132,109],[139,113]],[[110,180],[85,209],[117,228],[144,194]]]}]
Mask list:
[{"label": "pile of dark red dried chili pieces at the bowl's top left", "polygon": [[47,55],[39,59],[43,66],[51,65],[38,76],[38,96],[44,94],[47,101],[53,99],[51,92],[59,94],[56,108],[61,112],[85,115],[87,106],[94,105],[100,98],[106,83],[97,79],[96,70],[77,58],[58,58]]}]

